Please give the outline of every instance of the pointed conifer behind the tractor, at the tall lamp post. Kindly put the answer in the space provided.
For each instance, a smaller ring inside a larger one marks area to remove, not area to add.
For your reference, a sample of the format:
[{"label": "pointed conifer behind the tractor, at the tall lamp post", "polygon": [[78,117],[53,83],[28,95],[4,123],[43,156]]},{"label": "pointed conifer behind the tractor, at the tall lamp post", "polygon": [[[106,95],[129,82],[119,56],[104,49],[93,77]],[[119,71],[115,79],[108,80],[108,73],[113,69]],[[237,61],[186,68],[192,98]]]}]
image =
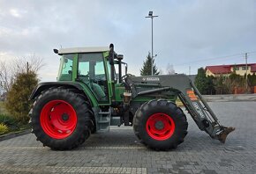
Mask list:
[{"label": "pointed conifer behind the tractor, at the tall lamp post", "polygon": [[[147,54],[147,58],[146,58],[146,61],[143,62],[143,67],[140,69],[140,75],[141,76],[151,76],[151,55],[150,53],[148,52]],[[153,74],[154,75],[158,75],[159,72],[158,72],[158,69],[156,68],[155,64],[154,64],[154,59],[153,59]]]}]

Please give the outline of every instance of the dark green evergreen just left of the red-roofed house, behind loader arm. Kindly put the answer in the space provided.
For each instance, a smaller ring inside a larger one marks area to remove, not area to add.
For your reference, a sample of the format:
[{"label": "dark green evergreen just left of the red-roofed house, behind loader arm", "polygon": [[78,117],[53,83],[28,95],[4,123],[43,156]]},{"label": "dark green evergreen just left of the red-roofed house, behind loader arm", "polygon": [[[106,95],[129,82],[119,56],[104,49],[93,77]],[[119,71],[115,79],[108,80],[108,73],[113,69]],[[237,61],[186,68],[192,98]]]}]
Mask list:
[{"label": "dark green evergreen just left of the red-roofed house, behind loader arm", "polygon": [[215,85],[213,83],[213,77],[207,77],[206,71],[203,68],[198,69],[198,74],[195,77],[195,85],[201,94],[213,94],[215,93]]}]

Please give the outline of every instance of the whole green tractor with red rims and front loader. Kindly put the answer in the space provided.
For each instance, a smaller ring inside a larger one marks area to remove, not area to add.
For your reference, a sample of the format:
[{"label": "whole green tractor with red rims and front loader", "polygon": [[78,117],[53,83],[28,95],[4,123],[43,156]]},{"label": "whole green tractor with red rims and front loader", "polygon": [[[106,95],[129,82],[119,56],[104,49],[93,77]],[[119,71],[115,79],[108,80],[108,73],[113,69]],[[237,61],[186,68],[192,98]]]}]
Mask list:
[{"label": "whole green tractor with red rims and front loader", "polygon": [[213,139],[224,142],[235,129],[219,123],[188,76],[127,74],[123,55],[114,51],[113,44],[54,52],[61,55],[57,82],[38,84],[29,112],[32,132],[51,149],[76,148],[90,134],[121,125],[133,127],[148,148],[175,149],[188,127],[177,98]]}]

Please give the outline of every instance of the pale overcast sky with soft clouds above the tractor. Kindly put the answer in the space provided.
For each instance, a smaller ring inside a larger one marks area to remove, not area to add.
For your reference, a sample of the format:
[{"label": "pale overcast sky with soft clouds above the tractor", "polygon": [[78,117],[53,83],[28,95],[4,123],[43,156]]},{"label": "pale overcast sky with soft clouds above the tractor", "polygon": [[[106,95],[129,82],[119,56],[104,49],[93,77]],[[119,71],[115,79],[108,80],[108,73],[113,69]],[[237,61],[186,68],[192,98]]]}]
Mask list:
[{"label": "pale overcast sky with soft clouds above the tractor", "polygon": [[[35,54],[46,64],[41,81],[56,81],[59,57],[53,48],[109,47],[124,54],[139,76],[151,52],[154,11],[156,66],[196,74],[207,65],[256,62],[255,0],[0,0],[0,59]],[[230,56],[232,55],[232,56]]]}]

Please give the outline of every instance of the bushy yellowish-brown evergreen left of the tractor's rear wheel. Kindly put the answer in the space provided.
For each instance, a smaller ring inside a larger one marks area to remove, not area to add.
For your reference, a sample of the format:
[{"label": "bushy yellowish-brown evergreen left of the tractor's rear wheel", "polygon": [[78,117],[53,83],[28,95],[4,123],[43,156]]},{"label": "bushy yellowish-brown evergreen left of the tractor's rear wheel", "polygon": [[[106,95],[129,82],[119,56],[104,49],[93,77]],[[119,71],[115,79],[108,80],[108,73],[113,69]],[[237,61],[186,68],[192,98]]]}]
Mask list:
[{"label": "bushy yellowish-brown evergreen left of the tractor's rear wheel", "polygon": [[38,79],[34,71],[19,73],[7,94],[6,109],[20,123],[24,124],[29,119],[27,115],[31,102],[28,99],[37,83]]}]

